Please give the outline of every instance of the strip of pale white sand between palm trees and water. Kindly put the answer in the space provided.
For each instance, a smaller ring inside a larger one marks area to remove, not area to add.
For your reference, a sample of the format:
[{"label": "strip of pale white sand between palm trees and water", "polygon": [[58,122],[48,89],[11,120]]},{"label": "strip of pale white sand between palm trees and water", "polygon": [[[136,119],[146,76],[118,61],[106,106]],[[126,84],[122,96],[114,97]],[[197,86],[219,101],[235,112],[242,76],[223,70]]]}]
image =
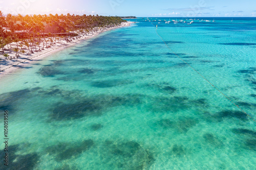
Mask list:
[{"label": "strip of pale white sand between palm trees and water", "polygon": [[[54,44],[54,46],[52,46],[50,48],[45,48],[44,51],[35,52],[34,54],[31,54],[30,56],[19,53],[20,57],[18,59],[7,60],[6,57],[5,58],[1,57],[2,60],[0,61],[0,63],[1,63],[0,64],[0,77],[2,77],[3,75],[10,74],[11,72],[14,72],[14,70],[16,71],[18,68],[18,67],[16,67],[17,65],[18,66],[28,65],[32,62],[35,62],[38,59],[48,57],[50,54],[56,53],[56,52],[62,50],[63,48],[70,47],[79,42],[83,42],[90,38],[96,37],[100,33],[118,29],[118,28],[129,27],[129,26],[131,26],[131,23],[134,23],[134,22],[131,22],[131,21],[122,22],[120,26],[112,27],[109,29],[100,29],[99,31],[96,31],[94,33],[89,33],[86,36],[81,36],[80,38],[75,38],[71,42],[66,42],[66,41],[62,40],[59,43],[56,41],[56,44]],[[14,45],[14,44],[12,44],[12,45]],[[15,52],[12,52],[9,55],[10,55],[10,57],[14,57]]]}]

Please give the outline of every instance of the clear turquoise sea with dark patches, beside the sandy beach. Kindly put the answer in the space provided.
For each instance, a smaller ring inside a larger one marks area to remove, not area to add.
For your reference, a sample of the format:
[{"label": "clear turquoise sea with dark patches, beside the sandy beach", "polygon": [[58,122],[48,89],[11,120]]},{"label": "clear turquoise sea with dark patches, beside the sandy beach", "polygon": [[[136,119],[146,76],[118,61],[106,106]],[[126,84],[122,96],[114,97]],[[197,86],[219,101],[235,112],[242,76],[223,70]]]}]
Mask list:
[{"label": "clear turquoise sea with dark patches, beside the sandy beach", "polygon": [[256,169],[256,18],[213,19],[131,19],[1,78],[0,169]]}]

